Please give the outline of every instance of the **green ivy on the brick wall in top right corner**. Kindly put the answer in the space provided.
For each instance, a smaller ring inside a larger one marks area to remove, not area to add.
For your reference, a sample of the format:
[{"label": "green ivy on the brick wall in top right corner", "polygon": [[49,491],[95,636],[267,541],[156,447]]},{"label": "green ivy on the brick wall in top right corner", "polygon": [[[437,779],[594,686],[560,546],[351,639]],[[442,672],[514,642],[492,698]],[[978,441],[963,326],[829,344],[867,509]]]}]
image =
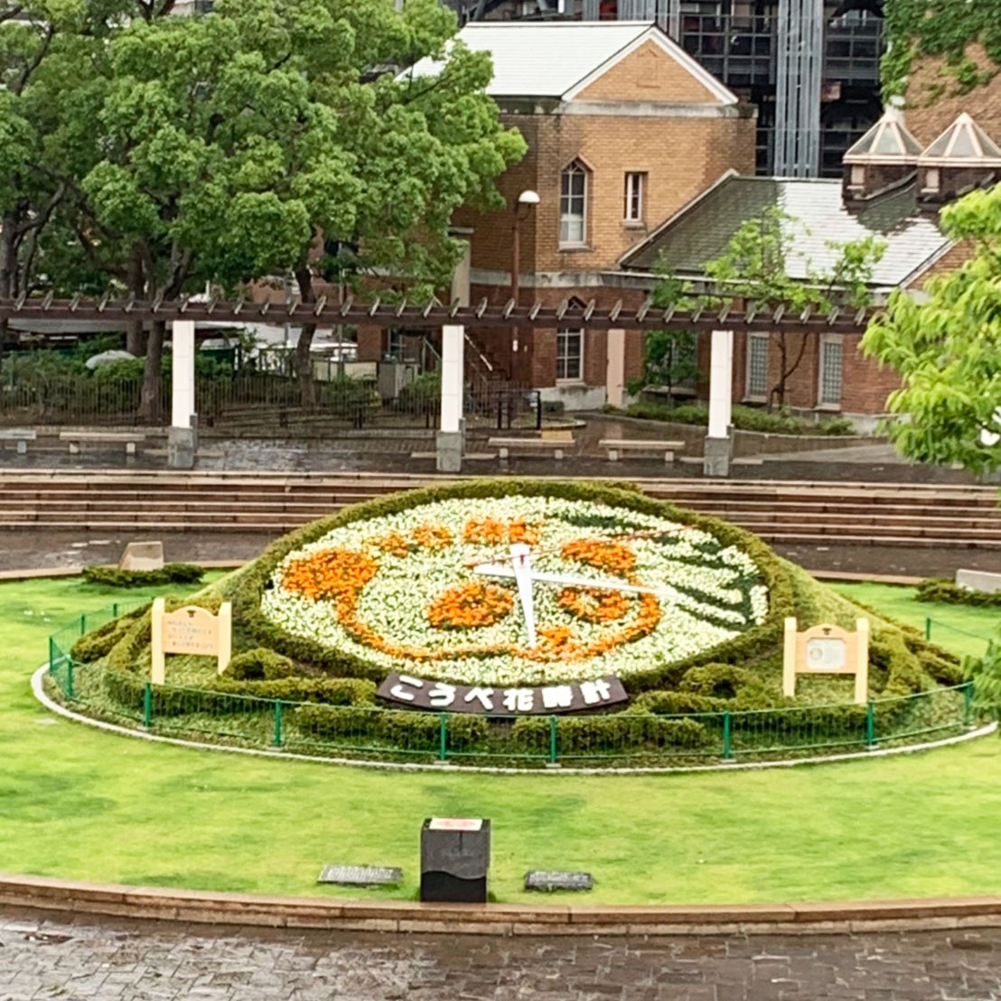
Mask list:
[{"label": "green ivy on the brick wall in top right corner", "polygon": [[[909,91],[913,63],[922,57],[941,61],[942,76],[952,81],[950,95],[989,82],[1001,68],[1001,25],[994,0],[888,0],[884,16],[888,45],[880,69],[886,100],[907,95],[912,104],[931,104],[946,93],[942,83],[928,94]],[[967,55],[975,42],[993,66],[978,70]]]}]

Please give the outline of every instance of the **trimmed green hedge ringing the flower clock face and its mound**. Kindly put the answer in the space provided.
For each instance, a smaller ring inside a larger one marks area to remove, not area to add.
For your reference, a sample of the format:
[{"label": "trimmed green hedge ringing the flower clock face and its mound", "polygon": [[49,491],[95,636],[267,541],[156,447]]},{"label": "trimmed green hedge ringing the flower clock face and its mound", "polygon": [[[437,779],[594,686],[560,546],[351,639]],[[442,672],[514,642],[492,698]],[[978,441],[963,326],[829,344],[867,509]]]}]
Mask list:
[{"label": "trimmed green hedge ringing the flower clock face and its mound", "polygon": [[[293,731],[307,738],[344,744],[371,743],[373,749],[436,754],[440,717],[436,713],[376,708],[376,682],[386,674],[379,665],[328,650],[318,643],[292,637],[260,613],[260,598],[276,565],[290,552],[314,542],[331,529],[373,517],[396,514],[446,497],[491,497],[510,494],[553,495],[610,504],[670,518],[714,536],[721,546],[743,550],[758,567],[769,589],[765,621],[734,640],[681,661],[653,661],[642,673],[623,679],[634,697],[630,709],[606,715],[563,717],[559,723],[560,754],[577,757],[643,756],[646,753],[712,754],[721,739],[722,715],[706,719],[666,719],[669,716],[741,713],[781,708],[768,717],[768,739],[794,740],[804,728],[855,739],[865,724],[864,708],[810,707],[785,700],[775,679],[781,669],[783,621],[844,619],[844,608],[820,586],[781,561],[760,539],[716,519],[678,509],[644,495],[632,484],[609,486],[590,482],[540,480],[472,480],[392,494],[356,505],[314,522],[271,544],[241,574],[217,593],[193,600],[170,599],[169,610],[196,604],[212,612],[223,600],[233,604],[236,653],[222,677],[195,690],[159,688],[152,691],[157,717],[186,714],[229,716],[253,712],[249,699],[262,700],[259,709],[272,711],[273,700],[300,704],[289,714]],[[852,608],[845,606],[845,608]],[[874,614],[871,641],[871,689],[883,696],[902,696],[961,680],[958,662],[927,643],[913,630],[886,626]],[[830,621],[830,620],[829,620]],[[845,623],[841,623],[845,625]],[[106,656],[104,689],[129,713],[141,716],[149,648],[148,607],[89,634],[74,647],[74,657],[88,663]],[[766,680],[768,679],[768,680]],[[301,705],[306,703],[308,705]],[[881,707],[881,726],[907,718],[908,704]],[[749,717],[747,734],[757,717]],[[763,717],[764,719],[764,717]],[[743,725],[742,725],[743,726]],[[548,717],[495,720],[450,715],[449,753],[491,752],[512,755],[549,754]]]}]

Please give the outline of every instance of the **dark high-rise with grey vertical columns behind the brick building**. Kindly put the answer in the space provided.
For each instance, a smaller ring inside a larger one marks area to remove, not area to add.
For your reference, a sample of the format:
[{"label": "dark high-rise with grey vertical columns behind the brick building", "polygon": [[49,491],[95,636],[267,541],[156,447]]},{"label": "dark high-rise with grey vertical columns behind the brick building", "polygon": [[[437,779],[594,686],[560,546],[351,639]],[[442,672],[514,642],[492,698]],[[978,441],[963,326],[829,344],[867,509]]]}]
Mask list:
[{"label": "dark high-rise with grey vertical columns behind the brick building", "polygon": [[882,112],[883,0],[442,0],[468,20],[657,21],[758,106],[757,168],[838,177]]}]

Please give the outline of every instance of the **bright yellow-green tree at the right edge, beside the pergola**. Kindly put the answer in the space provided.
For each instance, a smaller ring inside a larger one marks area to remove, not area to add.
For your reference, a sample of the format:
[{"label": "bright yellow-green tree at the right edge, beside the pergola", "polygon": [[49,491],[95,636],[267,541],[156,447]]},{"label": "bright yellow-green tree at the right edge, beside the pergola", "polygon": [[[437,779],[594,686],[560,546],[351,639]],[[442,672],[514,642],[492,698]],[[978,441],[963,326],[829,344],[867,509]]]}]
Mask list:
[{"label": "bright yellow-green tree at the right edge, beside the pergola", "polygon": [[969,259],[920,300],[893,292],[862,349],[900,374],[887,407],[902,419],[887,431],[904,455],[990,472],[1001,468],[1001,184],[943,209],[941,225]]}]

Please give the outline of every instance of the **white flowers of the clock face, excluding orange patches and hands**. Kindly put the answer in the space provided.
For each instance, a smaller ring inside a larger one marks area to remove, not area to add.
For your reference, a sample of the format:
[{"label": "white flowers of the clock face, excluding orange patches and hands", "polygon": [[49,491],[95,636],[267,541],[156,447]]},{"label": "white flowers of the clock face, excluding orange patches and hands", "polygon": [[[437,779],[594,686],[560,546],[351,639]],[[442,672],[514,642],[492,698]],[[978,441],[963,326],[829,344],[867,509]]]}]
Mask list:
[{"label": "white flowers of the clock face, excluding orange patches and hands", "polygon": [[[540,635],[560,637],[566,646],[541,639],[530,648],[515,582],[471,570],[473,564],[502,562],[508,556],[507,540],[492,545],[463,540],[470,523],[487,520],[533,527],[539,537],[532,545],[538,571],[632,582],[653,589],[656,602],[628,595],[628,608],[614,621],[591,622],[561,605],[561,585],[537,582],[533,597]],[[435,548],[411,543],[406,552],[386,552],[385,540],[409,541],[415,531],[419,536],[419,530],[428,528],[444,529],[448,538]],[[637,533],[648,535],[629,538]],[[626,547],[635,556],[635,567],[615,574],[565,559],[563,547],[581,540]],[[350,616],[344,606],[338,614],[336,601],[295,593],[286,580],[289,567],[331,550],[360,554],[369,566],[372,560],[377,565],[374,576],[352,593]],[[465,582],[508,589],[515,599],[512,611],[477,628],[432,626],[430,604],[446,589]],[[626,676],[724,643],[761,623],[768,612],[761,575],[740,550],[666,519],[545,496],[453,498],[355,522],[290,554],[271,583],[261,610],[289,634],[355,655],[387,672],[467,684],[541,685]],[[372,631],[377,642],[370,642],[371,634],[364,629]],[[629,639],[618,640],[623,636]],[[603,645],[607,649],[588,653]]]}]

